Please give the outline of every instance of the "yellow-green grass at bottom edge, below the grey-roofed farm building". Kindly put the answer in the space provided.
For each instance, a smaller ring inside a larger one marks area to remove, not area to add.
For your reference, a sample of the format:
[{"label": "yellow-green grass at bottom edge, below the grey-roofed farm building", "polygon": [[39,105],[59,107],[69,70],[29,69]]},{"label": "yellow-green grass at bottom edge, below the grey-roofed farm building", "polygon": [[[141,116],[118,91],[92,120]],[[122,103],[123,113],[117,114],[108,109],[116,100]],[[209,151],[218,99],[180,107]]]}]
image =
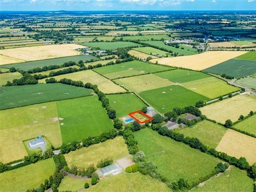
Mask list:
[{"label": "yellow-green grass at bottom edge, below the grey-roofed farm building", "polygon": [[163,182],[152,179],[149,175],[141,173],[120,173],[113,177],[100,180],[93,188],[88,191],[111,191],[111,192],[138,192],[138,191],[172,191]]}]

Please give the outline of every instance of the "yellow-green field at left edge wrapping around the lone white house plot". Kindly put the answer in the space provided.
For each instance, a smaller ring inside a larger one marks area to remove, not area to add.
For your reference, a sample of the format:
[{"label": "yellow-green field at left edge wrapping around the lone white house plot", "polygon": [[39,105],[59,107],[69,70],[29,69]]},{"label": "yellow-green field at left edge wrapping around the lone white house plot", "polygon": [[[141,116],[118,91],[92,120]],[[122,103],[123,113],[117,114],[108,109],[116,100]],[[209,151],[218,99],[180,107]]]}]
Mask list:
[{"label": "yellow-green field at left edge wrapping around the lone white house plot", "polygon": [[8,163],[28,156],[23,140],[45,135],[60,147],[61,132],[56,102],[0,111],[0,161]]}]

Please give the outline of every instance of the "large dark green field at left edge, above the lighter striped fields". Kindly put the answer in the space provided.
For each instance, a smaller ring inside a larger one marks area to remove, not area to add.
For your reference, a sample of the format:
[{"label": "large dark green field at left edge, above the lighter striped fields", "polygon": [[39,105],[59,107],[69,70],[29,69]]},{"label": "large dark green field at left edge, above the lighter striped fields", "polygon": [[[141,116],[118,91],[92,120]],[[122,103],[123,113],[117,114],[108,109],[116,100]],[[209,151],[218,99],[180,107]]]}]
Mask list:
[{"label": "large dark green field at left edge, above the lighter striped fields", "polygon": [[[0,109],[17,108],[51,100],[91,95],[93,91],[67,84],[29,84],[0,87]],[[10,98],[12,102],[10,102]]]}]

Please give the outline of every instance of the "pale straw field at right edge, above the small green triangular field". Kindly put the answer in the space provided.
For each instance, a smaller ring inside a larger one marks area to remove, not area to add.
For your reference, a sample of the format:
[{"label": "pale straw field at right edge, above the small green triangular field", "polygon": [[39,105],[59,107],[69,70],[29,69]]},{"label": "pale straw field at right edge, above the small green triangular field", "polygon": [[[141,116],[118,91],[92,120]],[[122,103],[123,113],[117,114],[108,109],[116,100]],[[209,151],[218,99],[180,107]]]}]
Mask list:
[{"label": "pale straw field at right edge, above the small green triangular field", "polygon": [[203,115],[221,124],[230,119],[236,122],[240,115],[247,116],[250,111],[256,111],[256,99],[251,95],[237,95],[200,108]]}]

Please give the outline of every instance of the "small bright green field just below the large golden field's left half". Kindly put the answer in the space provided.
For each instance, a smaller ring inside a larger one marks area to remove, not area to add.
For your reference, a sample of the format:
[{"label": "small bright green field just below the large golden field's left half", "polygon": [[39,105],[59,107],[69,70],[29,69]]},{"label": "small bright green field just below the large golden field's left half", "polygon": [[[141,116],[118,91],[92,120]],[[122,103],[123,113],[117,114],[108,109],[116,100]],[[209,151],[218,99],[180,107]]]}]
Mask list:
[{"label": "small bright green field just below the large golden field's left half", "polygon": [[211,77],[202,72],[196,72],[193,70],[182,70],[182,69],[160,72],[160,73],[156,73],[155,75],[162,77],[163,79],[168,79],[173,83],[185,83],[188,81],[195,81],[195,80]]}]

